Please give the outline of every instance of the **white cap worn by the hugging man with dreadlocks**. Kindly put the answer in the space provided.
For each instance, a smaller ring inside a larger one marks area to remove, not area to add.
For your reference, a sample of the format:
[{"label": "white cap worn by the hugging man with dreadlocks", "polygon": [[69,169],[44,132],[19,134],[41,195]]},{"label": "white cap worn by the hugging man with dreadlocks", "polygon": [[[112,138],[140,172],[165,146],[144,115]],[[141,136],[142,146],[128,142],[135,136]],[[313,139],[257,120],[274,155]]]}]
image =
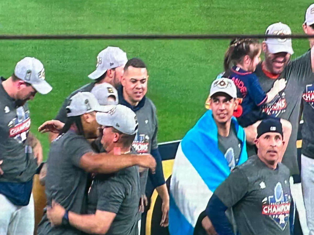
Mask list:
[{"label": "white cap worn by the hugging man with dreadlocks", "polygon": [[70,98],[67,117],[80,116],[92,111],[107,112],[108,106],[100,105],[96,97],[90,92],[78,92]]}]

